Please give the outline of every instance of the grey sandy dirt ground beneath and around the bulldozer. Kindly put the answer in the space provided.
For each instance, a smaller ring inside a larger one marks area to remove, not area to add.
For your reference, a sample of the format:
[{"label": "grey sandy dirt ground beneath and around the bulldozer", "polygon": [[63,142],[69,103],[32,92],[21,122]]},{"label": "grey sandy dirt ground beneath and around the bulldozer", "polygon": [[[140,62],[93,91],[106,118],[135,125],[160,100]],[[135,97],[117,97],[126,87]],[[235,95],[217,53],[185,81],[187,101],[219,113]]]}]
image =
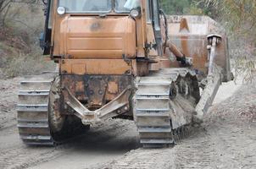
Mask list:
[{"label": "grey sandy dirt ground beneath and around the bulldozer", "polygon": [[132,121],[110,119],[56,147],[19,140],[19,78],[0,80],[0,168],[256,168],[256,87],[222,85],[194,134],[174,148],[142,149]]}]

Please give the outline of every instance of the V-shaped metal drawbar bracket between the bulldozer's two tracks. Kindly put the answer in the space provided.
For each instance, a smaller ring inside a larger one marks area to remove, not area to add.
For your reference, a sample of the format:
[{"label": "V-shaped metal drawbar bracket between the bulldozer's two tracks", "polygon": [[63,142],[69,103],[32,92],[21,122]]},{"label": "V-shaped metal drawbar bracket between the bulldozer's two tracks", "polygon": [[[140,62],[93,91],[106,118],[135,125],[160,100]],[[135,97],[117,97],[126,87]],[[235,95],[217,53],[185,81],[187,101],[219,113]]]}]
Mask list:
[{"label": "V-shaped metal drawbar bracket between the bulldozer's two tracks", "polygon": [[113,101],[110,101],[108,104],[95,111],[87,109],[86,106],[75,98],[75,95],[73,95],[68,88],[65,87],[64,90],[67,91],[68,94],[65,103],[72,108],[75,116],[81,118],[84,124],[93,124],[110,117],[116,117],[127,112],[130,108],[131,86],[128,86]]}]

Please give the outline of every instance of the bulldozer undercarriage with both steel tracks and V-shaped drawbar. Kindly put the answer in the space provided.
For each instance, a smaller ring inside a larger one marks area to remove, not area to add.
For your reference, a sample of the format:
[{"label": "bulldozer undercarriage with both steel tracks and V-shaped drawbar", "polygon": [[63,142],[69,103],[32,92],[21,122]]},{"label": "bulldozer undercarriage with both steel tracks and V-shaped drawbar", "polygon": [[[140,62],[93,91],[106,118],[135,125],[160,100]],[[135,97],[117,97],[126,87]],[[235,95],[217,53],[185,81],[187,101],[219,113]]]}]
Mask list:
[{"label": "bulldozer undercarriage with both steel tracks and V-shaped drawbar", "polygon": [[81,92],[79,97],[73,95],[72,88],[59,87],[60,79],[55,74],[43,74],[21,82],[18,127],[26,144],[58,143],[77,134],[81,123],[87,128],[120,115],[134,118],[144,146],[174,144],[175,139],[188,134],[199,99],[196,74],[187,68],[166,68],[137,77],[134,84],[100,108],[95,104],[89,108],[88,101],[79,101],[85,98]]}]

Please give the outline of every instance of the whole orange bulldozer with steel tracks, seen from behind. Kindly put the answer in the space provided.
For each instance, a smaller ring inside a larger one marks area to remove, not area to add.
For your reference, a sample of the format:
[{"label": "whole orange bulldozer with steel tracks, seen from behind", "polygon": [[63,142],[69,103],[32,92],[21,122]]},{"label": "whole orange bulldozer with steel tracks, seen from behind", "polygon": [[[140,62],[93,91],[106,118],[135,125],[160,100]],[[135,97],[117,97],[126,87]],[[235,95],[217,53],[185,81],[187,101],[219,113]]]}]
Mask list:
[{"label": "whole orange bulldozer with steel tracks, seen from behind", "polygon": [[47,0],[43,55],[57,71],[26,76],[20,139],[53,145],[109,118],[136,123],[145,147],[175,144],[232,79],[225,31],[158,0]]}]

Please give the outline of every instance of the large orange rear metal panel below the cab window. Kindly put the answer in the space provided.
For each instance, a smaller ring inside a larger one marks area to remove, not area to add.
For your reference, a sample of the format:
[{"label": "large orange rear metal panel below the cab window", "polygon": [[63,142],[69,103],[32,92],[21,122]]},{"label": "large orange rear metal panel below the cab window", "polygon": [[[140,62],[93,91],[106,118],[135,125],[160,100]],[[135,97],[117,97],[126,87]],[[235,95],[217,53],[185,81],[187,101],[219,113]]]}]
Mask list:
[{"label": "large orange rear metal panel below the cab window", "polygon": [[136,57],[136,23],[129,17],[67,16],[60,27],[60,55],[76,59]]}]

